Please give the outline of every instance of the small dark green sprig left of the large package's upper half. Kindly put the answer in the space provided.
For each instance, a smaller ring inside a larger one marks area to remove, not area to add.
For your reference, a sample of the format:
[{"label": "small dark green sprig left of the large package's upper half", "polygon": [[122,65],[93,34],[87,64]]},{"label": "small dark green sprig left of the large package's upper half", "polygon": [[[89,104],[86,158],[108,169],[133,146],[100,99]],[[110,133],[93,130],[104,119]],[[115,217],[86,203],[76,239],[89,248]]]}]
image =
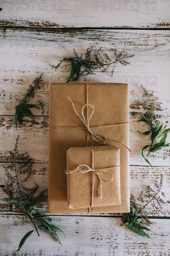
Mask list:
[{"label": "small dark green sprig left of the large package's upper half", "polygon": [[22,101],[20,102],[20,104],[18,104],[15,107],[15,127],[17,129],[18,127],[18,121],[19,123],[22,121],[23,115],[26,115],[30,118],[33,118],[33,114],[30,110],[30,108],[39,108],[39,106],[37,104],[27,104],[28,101],[30,101],[31,98],[34,97],[34,93],[35,90],[40,89],[42,87],[42,75],[43,73],[41,73],[39,75],[39,77],[37,77],[32,84],[29,85],[29,88],[26,92],[26,94],[24,95],[24,98],[22,99]]}]

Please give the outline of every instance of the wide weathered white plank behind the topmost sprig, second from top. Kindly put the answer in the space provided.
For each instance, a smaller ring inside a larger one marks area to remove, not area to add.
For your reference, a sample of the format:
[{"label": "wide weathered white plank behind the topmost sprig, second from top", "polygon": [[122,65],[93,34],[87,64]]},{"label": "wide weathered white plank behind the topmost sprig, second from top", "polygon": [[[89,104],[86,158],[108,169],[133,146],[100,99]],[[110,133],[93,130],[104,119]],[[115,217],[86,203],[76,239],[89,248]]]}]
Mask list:
[{"label": "wide weathered white plank behind the topmost sprig, second from top", "polygon": [[[127,50],[135,56],[131,59],[131,65],[120,66],[115,69],[113,77],[109,72],[81,78],[79,81],[88,82],[127,82],[130,87],[130,104],[138,93],[141,97],[139,85],[142,83],[146,88],[156,91],[160,101],[163,101],[165,109],[169,107],[169,34],[167,31],[153,32],[128,31],[25,31],[7,30],[2,36],[2,73],[1,73],[1,115],[13,115],[13,107],[21,99],[28,85],[39,72],[44,72],[44,81],[65,82],[70,70],[68,63],[62,65],[57,71],[54,66],[64,57],[72,56],[72,48],[76,48],[78,54],[85,52],[88,45],[104,47],[107,54],[111,47]],[[13,35],[15,39],[13,41]],[[24,38],[24,39],[23,39]],[[99,40],[100,38],[100,40]],[[107,40],[105,39],[107,38]],[[22,44],[25,41],[26,47]],[[32,43],[31,43],[32,42]],[[42,47],[45,46],[46,53],[42,55]],[[63,49],[67,49],[63,53]],[[147,54],[146,54],[147,52]],[[8,53],[8,54],[7,54]],[[26,57],[26,61],[23,59]],[[17,62],[15,59],[17,58]],[[140,58],[140,61],[139,61]],[[150,61],[148,61],[150,60]],[[159,60],[159,61],[158,61]],[[14,70],[13,70],[13,67]],[[39,72],[37,72],[39,70]],[[161,90],[160,90],[161,88]],[[19,90],[19,91],[18,91]],[[45,101],[44,115],[48,115],[48,88],[38,92],[39,97],[35,100]],[[15,98],[9,106],[8,101]],[[135,107],[135,105],[133,106]],[[34,111],[34,110],[33,110]],[[41,115],[41,111],[34,112]],[[42,115],[43,115],[42,114]]]}]

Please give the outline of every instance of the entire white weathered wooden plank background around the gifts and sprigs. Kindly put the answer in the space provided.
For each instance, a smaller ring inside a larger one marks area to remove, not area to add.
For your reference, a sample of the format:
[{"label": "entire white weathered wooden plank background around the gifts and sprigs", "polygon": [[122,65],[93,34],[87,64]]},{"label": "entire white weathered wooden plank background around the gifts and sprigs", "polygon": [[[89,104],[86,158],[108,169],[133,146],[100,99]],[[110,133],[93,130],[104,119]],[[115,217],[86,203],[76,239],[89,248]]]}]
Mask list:
[{"label": "entire white weathered wooden plank background around the gifts and sprigs", "polygon": [[[65,82],[70,65],[65,63],[57,71],[54,66],[63,57],[72,56],[72,48],[79,54],[90,45],[126,50],[135,56],[131,65],[116,68],[113,78],[109,72],[81,78],[79,81],[127,82],[130,93],[131,192],[153,186],[163,173],[163,191],[169,202],[169,151],[163,149],[151,156],[149,167],[140,155],[148,138],[135,130],[143,112],[140,108],[140,85],[154,90],[163,102],[160,117],[169,125],[170,62],[169,62],[169,0],[94,1],[46,0],[0,1],[1,15],[1,155],[13,148],[20,134],[20,150],[28,150],[35,158],[37,170],[34,180],[41,188],[48,183],[48,102],[51,82]],[[108,5],[108,6],[107,6]],[[43,102],[43,108],[33,109],[34,117],[24,118],[16,131],[13,126],[14,106],[22,98],[29,84],[40,72],[45,86],[36,92],[32,102]],[[4,170],[0,169],[0,184]],[[119,214],[52,216],[53,222],[64,231],[59,234],[62,246],[48,234],[30,236],[20,252],[15,252],[21,238],[32,229],[16,208],[9,208],[7,196],[1,192],[1,252],[2,256],[167,256],[169,250],[169,205],[163,213],[154,215],[155,224],[146,239],[120,227]],[[47,202],[39,211],[48,212]]]}]

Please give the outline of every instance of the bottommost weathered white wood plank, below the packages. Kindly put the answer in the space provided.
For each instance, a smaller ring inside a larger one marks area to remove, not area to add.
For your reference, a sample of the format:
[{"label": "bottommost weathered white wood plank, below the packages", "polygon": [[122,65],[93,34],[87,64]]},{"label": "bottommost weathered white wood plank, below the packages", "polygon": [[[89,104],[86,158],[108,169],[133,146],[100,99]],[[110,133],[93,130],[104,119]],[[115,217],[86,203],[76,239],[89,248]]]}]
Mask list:
[{"label": "bottommost weathered white wood plank, below the packages", "polygon": [[148,233],[152,239],[143,238],[120,227],[121,219],[112,217],[62,216],[53,217],[53,223],[64,230],[59,237],[60,246],[49,234],[34,232],[20,252],[15,253],[26,232],[33,229],[24,216],[1,216],[1,255],[13,256],[139,256],[169,255],[169,220],[157,220]]}]

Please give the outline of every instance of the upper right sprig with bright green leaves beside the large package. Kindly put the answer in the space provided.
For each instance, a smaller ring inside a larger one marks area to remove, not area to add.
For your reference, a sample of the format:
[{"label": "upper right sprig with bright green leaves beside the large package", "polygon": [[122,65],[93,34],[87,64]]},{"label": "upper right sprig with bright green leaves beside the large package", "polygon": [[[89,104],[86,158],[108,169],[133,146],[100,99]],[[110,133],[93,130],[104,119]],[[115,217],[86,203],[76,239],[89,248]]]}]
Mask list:
[{"label": "upper right sprig with bright green leaves beside the large package", "polygon": [[[142,115],[142,118],[139,121],[146,122],[150,126],[150,129],[148,131],[141,132],[137,128],[137,132],[142,135],[150,135],[151,143],[144,146],[144,148],[142,149],[142,156],[144,160],[151,166],[147,157],[150,155],[151,152],[155,152],[170,145],[170,143],[166,144],[166,138],[168,133],[170,132],[170,128],[166,129],[167,126],[163,126],[163,122],[157,120],[157,115],[155,114],[155,111],[157,111],[157,109],[160,109],[160,103],[157,102],[158,98],[155,98],[153,96],[154,92],[152,91],[151,93],[149,93],[143,86],[141,87],[144,91],[143,97],[145,97],[145,103],[143,107],[147,106],[147,112]],[[147,156],[144,155],[146,151]]]}]

